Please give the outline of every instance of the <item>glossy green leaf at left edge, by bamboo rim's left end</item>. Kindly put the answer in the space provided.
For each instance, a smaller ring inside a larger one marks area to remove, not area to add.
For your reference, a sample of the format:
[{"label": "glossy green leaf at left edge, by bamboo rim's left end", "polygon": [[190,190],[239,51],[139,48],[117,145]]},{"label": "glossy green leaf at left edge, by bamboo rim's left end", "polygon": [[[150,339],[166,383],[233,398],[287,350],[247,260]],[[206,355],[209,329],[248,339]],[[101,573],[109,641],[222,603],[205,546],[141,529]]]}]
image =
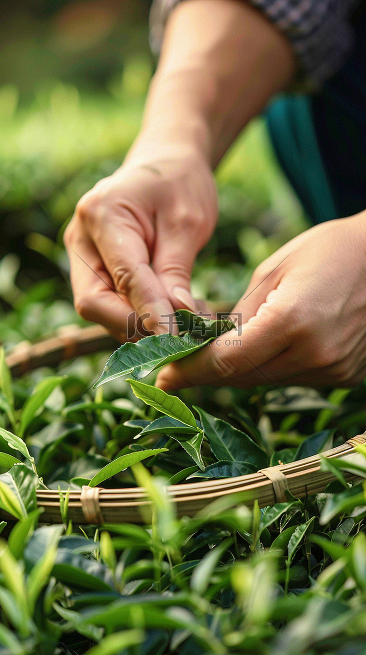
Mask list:
[{"label": "glossy green leaf at left edge, by bamboo rim's left end", "polygon": [[0,475],[1,507],[18,519],[32,512],[37,508],[37,483],[38,478],[30,468],[14,464],[10,471]]}]

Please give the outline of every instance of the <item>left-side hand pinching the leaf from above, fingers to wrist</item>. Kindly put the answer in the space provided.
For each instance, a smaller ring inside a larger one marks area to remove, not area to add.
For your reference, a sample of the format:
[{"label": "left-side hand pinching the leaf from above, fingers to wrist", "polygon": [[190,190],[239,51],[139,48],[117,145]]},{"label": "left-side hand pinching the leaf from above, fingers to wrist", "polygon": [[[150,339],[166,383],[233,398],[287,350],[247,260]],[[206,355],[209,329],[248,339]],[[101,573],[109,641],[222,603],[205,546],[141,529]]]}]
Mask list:
[{"label": "left-side hand pinching the leaf from above, fingers to wrist", "polygon": [[141,336],[167,332],[163,314],[196,309],[191,269],[216,225],[216,187],[201,154],[176,153],[179,144],[140,147],[81,198],[65,230],[76,310],[122,342],[131,312]]}]

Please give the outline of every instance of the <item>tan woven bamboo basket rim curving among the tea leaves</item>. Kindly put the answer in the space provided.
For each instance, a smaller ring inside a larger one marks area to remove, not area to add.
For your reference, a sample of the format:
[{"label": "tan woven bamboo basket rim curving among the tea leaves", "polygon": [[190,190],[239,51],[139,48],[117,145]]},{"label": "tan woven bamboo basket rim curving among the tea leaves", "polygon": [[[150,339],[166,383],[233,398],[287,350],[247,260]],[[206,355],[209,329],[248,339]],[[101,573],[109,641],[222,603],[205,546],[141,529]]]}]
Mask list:
[{"label": "tan woven bamboo basket rim curving among the tea leaves", "polygon": [[[56,366],[73,357],[109,350],[116,341],[101,326],[67,326],[58,336],[39,343],[20,343],[7,356],[7,364],[15,377],[40,366]],[[322,457],[346,458],[356,462],[360,455],[356,445],[366,443],[366,432],[325,453]],[[351,474],[348,474],[352,478]],[[247,476],[206,482],[192,482],[168,487],[175,500],[178,516],[193,516],[207,504],[222,496],[239,494],[238,502],[252,507],[258,500],[260,507],[273,505],[287,499],[290,491],[297,498],[321,493],[334,476],[320,470],[320,457],[314,455],[298,462],[263,468]],[[52,489],[37,491],[37,502],[44,509],[42,521],[61,523],[59,492]],[[69,493],[69,519],[78,525],[99,523],[142,523],[148,518],[150,501],[144,489],[103,489],[83,487]],[[146,514],[147,513],[147,514]],[[5,513],[4,513],[5,514]]]}]

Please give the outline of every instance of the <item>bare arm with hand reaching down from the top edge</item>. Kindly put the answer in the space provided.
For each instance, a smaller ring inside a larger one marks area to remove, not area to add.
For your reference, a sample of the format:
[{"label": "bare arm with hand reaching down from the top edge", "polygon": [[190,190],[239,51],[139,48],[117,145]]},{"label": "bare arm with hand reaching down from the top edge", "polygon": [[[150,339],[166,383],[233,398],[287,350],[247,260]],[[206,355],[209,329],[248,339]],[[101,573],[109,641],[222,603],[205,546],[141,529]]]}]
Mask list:
[{"label": "bare arm with hand reaching down from the top edge", "polygon": [[162,314],[195,308],[191,269],[217,215],[211,168],[294,69],[286,37],[244,2],[190,0],[173,11],[141,133],[65,232],[84,318],[123,341],[133,310],[162,332]]}]

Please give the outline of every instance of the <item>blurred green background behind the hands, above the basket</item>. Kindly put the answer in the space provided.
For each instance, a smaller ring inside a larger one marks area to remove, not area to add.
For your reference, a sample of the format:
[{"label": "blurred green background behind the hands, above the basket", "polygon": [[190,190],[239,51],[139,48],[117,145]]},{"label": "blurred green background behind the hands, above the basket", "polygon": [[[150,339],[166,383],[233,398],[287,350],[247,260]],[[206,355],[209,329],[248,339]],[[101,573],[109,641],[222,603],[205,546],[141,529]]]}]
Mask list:
[{"label": "blurred green background behind the hands, above the basket", "polygon": [[[75,204],[112,173],[139,130],[156,61],[148,0],[2,1],[0,341],[78,322],[62,234]],[[196,297],[235,303],[254,267],[307,227],[252,121],[216,172],[220,220],[199,256]]]}]

